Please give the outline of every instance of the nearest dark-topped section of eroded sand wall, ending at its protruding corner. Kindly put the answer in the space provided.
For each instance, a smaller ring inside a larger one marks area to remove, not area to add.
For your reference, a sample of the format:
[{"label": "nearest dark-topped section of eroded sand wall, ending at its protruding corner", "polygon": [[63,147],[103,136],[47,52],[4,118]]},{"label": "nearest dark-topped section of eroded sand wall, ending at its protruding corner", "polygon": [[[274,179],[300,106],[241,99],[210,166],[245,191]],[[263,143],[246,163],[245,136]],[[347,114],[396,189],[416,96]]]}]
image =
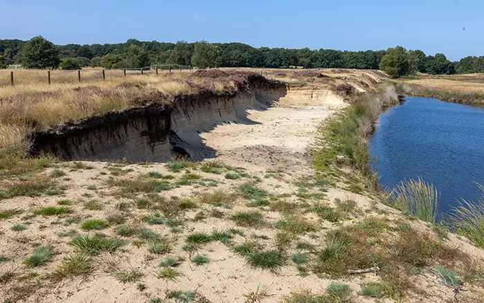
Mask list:
[{"label": "nearest dark-topped section of eroded sand wall, ending at its protruding corner", "polygon": [[68,123],[35,135],[31,153],[64,160],[169,160],[170,112],[151,104]]}]

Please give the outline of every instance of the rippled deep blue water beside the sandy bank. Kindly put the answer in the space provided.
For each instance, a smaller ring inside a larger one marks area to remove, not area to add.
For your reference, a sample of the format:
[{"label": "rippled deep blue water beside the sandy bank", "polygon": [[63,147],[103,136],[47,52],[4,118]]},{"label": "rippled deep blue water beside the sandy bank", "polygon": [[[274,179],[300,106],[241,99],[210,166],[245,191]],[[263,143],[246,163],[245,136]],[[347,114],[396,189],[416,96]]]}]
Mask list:
[{"label": "rippled deep blue water beside the sandy bank", "polygon": [[382,187],[422,177],[440,192],[440,214],[484,185],[484,107],[405,98],[380,115],[370,138]]}]

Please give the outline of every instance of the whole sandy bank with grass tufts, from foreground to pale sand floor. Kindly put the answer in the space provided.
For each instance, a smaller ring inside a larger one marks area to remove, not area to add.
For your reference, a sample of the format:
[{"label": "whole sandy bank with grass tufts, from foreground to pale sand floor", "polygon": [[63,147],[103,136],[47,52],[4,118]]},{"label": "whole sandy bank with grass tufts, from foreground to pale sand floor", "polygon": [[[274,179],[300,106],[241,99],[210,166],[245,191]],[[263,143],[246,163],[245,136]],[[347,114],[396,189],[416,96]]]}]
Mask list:
[{"label": "whole sandy bank with grass tufts, from foreground to pale sand floor", "polygon": [[[270,107],[216,125],[185,118],[176,129],[196,133],[214,159],[1,157],[0,297],[440,303],[465,287],[460,302],[478,302],[481,250],[380,203],[374,190],[361,138],[396,102],[378,89],[383,80],[366,71],[268,76],[293,81]],[[456,276],[463,284],[443,285]]]}]

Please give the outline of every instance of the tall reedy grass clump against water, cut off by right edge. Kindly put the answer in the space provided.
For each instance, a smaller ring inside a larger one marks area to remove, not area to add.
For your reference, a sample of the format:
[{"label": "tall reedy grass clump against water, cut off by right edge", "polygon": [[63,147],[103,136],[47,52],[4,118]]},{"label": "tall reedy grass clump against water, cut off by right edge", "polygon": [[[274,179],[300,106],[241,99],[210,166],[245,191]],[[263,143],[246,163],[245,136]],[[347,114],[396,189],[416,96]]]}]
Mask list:
[{"label": "tall reedy grass clump against water, cut off by right edge", "polygon": [[454,208],[451,223],[460,235],[468,237],[474,245],[484,248],[484,196],[477,203],[463,201]]}]

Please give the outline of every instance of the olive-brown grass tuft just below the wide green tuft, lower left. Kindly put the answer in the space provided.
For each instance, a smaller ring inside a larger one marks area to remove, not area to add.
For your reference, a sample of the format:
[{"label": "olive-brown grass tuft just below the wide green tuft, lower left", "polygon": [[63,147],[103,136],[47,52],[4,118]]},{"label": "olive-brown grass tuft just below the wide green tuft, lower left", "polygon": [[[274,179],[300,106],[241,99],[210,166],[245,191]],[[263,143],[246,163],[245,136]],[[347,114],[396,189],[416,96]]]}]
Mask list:
[{"label": "olive-brown grass tuft just below the wide green tuft, lower left", "polygon": [[87,277],[93,272],[91,257],[85,252],[75,252],[62,260],[60,266],[50,275],[54,282],[60,282],[67,277]]}]

